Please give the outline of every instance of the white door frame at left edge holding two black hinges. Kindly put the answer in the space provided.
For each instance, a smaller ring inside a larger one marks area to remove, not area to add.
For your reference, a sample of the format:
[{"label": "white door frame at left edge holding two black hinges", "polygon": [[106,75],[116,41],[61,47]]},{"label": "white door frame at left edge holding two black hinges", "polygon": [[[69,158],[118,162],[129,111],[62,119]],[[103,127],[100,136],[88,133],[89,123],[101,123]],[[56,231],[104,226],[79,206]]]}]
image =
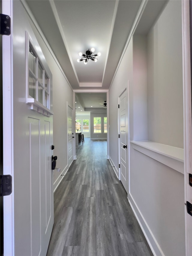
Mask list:
[{"label": "white door frame at left edge holding two black hinges", "polygon": [[14,255],[13,175],[13,2],[2,1],[2,13],[11,17],[11,35],[2,37],[3,58],[3,174],[12,176],[12,194],[4,196],[4,256]]}]

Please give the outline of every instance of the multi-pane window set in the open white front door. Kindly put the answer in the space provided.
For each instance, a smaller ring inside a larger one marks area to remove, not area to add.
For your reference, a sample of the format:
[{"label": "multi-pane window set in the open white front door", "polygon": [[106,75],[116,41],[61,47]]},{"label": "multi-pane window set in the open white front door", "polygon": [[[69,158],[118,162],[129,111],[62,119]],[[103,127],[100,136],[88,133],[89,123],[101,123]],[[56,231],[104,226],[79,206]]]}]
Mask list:
[{"label": "multi-pane window set in the open white front door", "polygon": [[49,108],[49,78],[30,41],[28,70],[28,98],[31,96],[44,107]]}]

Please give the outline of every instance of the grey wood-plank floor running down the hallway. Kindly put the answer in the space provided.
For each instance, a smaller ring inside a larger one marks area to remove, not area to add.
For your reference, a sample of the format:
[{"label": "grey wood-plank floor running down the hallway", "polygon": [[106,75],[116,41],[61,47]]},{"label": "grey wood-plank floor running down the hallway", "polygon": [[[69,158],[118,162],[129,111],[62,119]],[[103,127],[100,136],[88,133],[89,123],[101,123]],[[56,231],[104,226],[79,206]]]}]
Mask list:
[{"label": "grey wood-plank floor running down the hallway", "polygon": [[153,255],[107,160],[107,141],[76,146],[54,194],[54,226],[47,256]]}]

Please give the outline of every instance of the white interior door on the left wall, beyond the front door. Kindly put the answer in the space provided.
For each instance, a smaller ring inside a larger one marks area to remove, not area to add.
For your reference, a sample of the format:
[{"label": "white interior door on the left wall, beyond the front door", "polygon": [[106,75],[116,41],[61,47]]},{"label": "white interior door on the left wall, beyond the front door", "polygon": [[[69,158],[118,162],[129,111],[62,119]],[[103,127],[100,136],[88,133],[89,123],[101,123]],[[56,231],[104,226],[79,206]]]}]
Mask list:
[{"label": "white interior door on the left wall, beyond the front door", "polygon": [[68,166],[73,161],[73,109],[67,105],[67,143],[68,143]]}]

